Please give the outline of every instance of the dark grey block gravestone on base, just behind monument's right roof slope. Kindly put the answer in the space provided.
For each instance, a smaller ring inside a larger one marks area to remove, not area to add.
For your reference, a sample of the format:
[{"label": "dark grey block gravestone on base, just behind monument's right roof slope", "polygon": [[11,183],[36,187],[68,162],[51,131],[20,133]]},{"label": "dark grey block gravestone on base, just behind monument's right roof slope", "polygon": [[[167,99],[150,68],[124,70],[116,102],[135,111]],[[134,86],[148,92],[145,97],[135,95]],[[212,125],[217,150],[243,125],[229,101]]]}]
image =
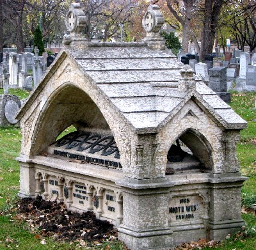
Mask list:
[{"label": "dark grey block gravestone on base, just behind monument's right roof slope", "polygon": [[230,93],[227,92],[227,68],[214,67],[209,70],[209,88],[224,102],[230,102]]}]

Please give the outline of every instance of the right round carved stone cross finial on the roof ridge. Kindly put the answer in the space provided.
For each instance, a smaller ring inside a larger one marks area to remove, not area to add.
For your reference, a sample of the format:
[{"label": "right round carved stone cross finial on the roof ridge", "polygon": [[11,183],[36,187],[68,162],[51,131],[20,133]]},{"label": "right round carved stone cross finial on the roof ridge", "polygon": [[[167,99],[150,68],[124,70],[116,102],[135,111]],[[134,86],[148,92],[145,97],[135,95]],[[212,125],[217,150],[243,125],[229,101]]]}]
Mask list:
[{"label": "right round carved stone cross finial on the roof ridge", "polygon": [[157,5],[150,4],[148,10],[142,19],[142,25],[148,33],[157,33],[164,24],[164,16],[160,12],[160,8]]}]

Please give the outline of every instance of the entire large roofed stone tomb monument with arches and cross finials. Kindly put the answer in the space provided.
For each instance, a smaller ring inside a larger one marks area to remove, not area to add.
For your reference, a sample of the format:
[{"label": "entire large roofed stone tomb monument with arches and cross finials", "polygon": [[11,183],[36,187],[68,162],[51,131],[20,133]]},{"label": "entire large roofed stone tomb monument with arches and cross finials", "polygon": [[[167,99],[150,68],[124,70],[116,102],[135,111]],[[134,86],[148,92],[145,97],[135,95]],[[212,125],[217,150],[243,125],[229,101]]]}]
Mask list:
[{"label": "entire large roofed stone tomb monument with arches and cross finials", "polygon": [[87,42],[78,3],[65,21],[63,50],[17,115],[19,196],[91,211],[131,250],[239,231],[246,121],[166,49],[159,7],[143,17],[143,43]]}]

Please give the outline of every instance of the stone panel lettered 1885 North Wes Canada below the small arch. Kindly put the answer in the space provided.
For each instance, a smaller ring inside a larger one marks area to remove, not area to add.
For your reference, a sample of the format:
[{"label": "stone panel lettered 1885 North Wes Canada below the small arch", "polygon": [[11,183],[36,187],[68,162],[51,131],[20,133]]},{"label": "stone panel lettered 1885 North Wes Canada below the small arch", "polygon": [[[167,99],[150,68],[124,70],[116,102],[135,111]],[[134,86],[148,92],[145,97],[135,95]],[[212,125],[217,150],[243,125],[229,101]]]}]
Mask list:
[{"label": "stone panel lettered 1885 North Wes Canada below the small arch", "polygon": [[189,224],[202,219],[204,213],[199,196],[173,197],[169,203],[169,221],[174,224]]}]

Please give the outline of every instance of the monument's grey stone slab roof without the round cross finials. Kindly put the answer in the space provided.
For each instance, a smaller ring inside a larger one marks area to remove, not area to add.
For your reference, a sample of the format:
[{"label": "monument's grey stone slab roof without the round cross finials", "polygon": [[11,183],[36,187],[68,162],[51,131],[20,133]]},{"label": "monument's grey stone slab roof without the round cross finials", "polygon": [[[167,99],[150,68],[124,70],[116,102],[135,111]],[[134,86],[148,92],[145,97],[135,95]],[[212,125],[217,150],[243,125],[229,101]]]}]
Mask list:
[{"label": "monument's grey stone slab roof without the round cross finials", "polygon": [[88,49],[64,49],[48,70],[40,86],[31,94],[29,107],[63,57],[72,58],[84,74],[103,91],[134,129],[157,128],[171,119],[194,97],[209,115],[226,129],[243,129],[244,121],[200,79],[195,90],[179,90],[184,65],[168,49],[150,49],[146,42],[87,43]]}]

